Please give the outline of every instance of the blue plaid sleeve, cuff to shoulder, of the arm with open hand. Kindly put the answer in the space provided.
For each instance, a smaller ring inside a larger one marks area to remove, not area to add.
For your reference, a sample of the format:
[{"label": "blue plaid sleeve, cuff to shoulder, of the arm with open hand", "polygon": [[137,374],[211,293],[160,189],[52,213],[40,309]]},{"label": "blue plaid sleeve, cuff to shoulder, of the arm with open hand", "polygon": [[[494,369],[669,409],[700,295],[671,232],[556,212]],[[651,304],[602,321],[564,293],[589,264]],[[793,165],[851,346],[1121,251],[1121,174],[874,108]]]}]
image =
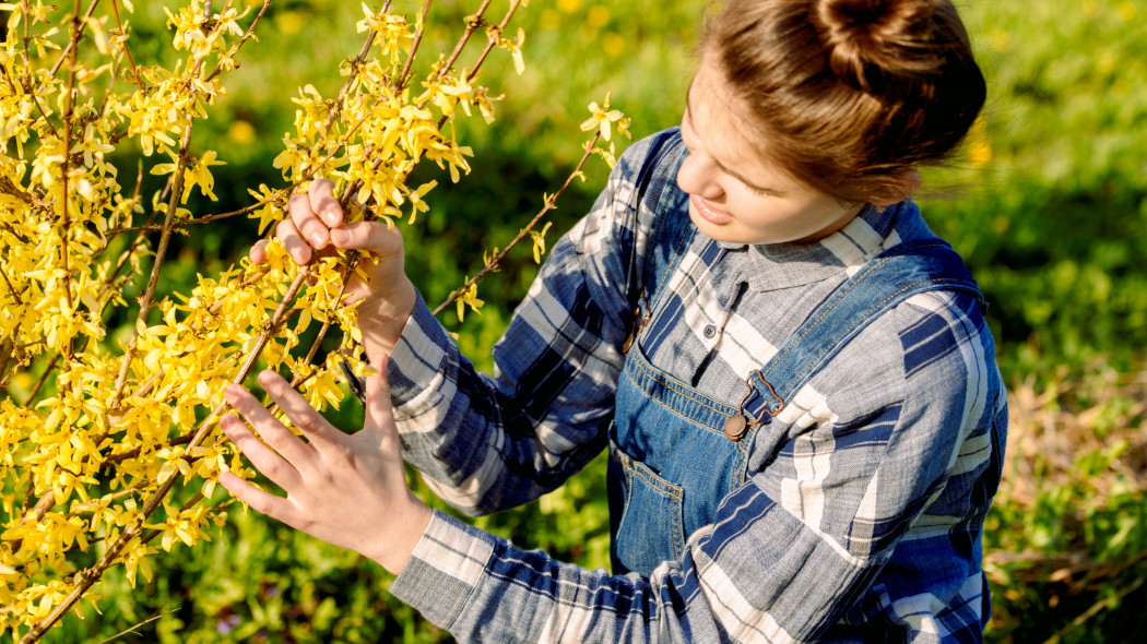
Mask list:
[{"label": "blue plaid sleeve, cuff to shoulder, of the arm with open hand", "polygon": [[[902,352],[885,327],[813,380],[884,401],[844,413],[810,384],[779,450],[682,560],[610,576],[438,513],[391,591],[459,641],[978,642],[1006,395],[969,301],[910,301],[891,335]],[[872,360],[876,345],[892,359]],[[850,387],[865,367],[877,382]]]}]

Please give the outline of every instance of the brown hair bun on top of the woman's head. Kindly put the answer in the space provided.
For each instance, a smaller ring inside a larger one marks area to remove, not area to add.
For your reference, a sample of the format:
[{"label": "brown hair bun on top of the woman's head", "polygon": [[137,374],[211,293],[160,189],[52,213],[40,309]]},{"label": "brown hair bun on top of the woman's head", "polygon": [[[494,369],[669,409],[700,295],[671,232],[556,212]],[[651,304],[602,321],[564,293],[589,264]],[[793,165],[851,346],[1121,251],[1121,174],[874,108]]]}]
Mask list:
[{"label": "brown hair bun on top of the woman's head", "polygon": [[882,94],[890,77],[939,71],[943,56],[929,46],[936,36],[934,0],[818,0],[829,65],[837,78]]}]

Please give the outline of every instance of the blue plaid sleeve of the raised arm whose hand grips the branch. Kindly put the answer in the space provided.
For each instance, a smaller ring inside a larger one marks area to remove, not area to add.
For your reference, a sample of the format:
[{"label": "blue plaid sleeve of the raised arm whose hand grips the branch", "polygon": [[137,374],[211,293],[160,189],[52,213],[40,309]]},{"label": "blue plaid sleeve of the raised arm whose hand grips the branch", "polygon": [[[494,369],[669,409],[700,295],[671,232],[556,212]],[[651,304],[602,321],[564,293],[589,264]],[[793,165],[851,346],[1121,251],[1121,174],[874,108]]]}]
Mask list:
[{"label": "blue plaid sleeve of the raised arm whose hand grips the branch", "polygon": [[618,159],[593,210],[559,239],[478,374],[419,300],[388,377],[404,456],[467,513],[554,489],[606,441],[643,238],[634,180],[649,140]]}]

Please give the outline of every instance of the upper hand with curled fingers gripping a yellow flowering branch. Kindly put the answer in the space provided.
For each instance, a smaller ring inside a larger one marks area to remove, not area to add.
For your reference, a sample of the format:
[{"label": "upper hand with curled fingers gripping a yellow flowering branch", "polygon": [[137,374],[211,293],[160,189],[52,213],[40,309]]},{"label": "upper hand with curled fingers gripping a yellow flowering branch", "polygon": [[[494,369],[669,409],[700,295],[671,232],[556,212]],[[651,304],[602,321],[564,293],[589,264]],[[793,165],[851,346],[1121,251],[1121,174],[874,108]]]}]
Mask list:
[{"label": "upper hand with curled fingers gripping a yellow flowering branch", "polygon": [[[343,209],[331,181],[317,179],[309,191],[292,195],[287,203],[290,219],[279,223],[275,235],[301,266],[317,254],[325,254],[323,251],[331,252],[331,246],[362,251],[359,264],[366,268],[368,278],[352,275],[344,300],[348,304],[361,300],[358,325],[364,348],[367,358],[377,362],[390,355],[398,343],[418,296],[403,269],[403,236],[398,228],[381,221],[344,226]],[[251,246],[252,262],[266,260],[266,245],[267,241],[260,239]]]}]

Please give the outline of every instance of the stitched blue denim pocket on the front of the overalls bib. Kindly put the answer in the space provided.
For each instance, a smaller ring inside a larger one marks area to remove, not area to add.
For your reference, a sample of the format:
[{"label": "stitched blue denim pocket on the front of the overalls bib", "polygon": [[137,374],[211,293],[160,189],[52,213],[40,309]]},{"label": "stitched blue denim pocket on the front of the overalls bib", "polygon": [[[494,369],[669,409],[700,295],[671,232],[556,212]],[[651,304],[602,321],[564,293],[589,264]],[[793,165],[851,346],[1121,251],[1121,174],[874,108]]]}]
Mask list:
[{"label": "stitched blue denim pocket on the front of the overalls bib", "polygon": [[614,532],[616,574],[638,572],[648,576],[662,561],[681,559],[685,552],[684,494],[651,468],[609,441],[610,474],[624,496]]}]

